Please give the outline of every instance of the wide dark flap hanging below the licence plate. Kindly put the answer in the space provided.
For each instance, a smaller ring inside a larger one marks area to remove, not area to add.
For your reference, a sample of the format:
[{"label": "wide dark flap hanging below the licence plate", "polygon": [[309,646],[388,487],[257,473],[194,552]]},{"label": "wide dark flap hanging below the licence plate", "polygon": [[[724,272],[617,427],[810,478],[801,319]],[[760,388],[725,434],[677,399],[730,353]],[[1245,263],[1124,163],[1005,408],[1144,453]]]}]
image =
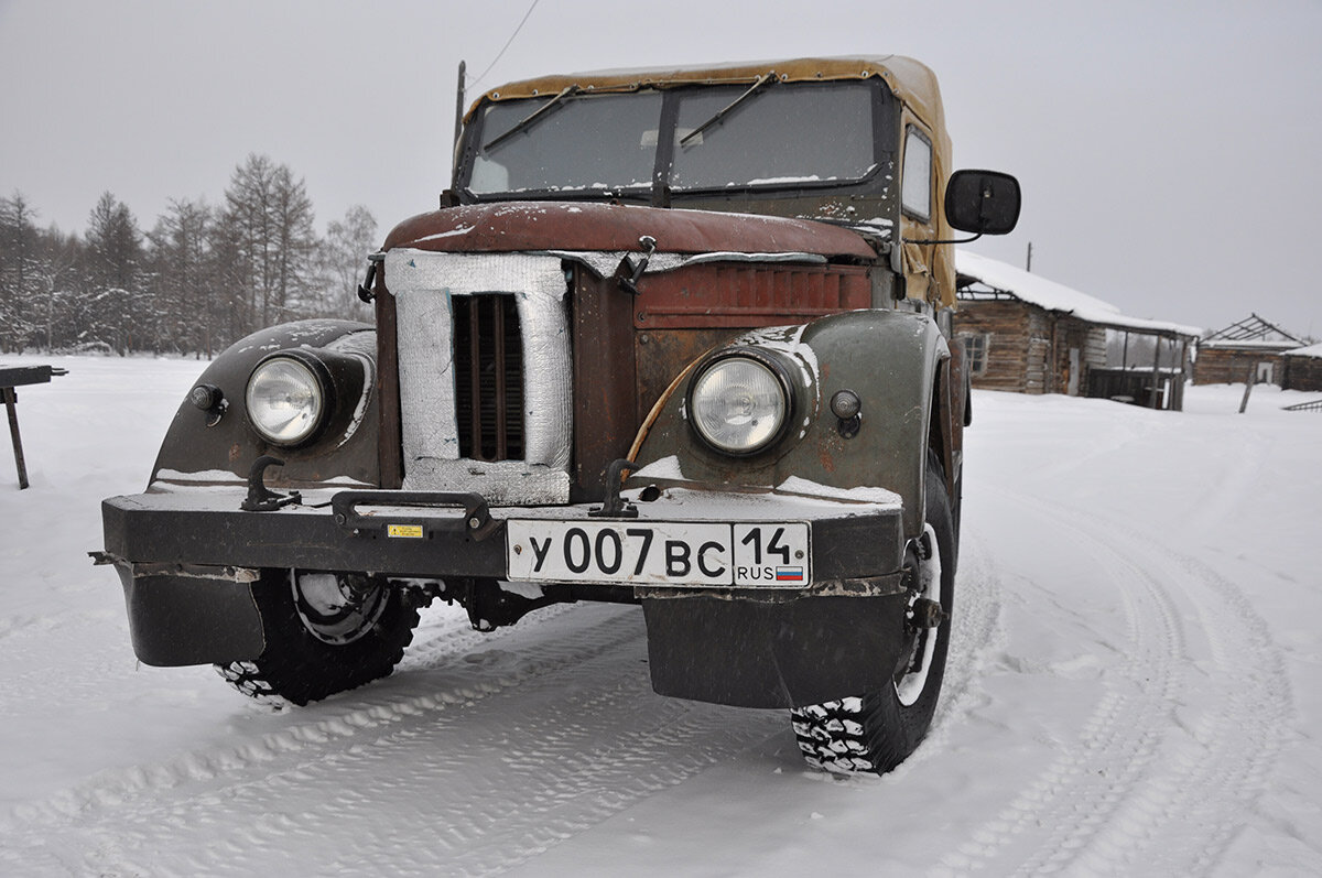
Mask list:
[{"label": "wide dark flap hanging below the licence plate", "polygon": [[642,602],[652,688],[738,707],[802,707],[894,685],[906,595],[785,603]]}]

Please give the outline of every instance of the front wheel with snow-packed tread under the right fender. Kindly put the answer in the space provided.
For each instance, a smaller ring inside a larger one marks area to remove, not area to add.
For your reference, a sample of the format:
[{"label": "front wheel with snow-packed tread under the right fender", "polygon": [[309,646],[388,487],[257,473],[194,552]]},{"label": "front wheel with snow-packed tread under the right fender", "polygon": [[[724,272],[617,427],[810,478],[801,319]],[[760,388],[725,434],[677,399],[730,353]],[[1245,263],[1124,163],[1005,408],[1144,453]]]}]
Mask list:
[{"label": "front wheel with snow-packed tread under the right fender", "polygon": [[956,551],[951,499],[937,465],[928,465],[925,481],[927,517],[910,551],[916,575],[894,685],[791,710],[798,747],[817,768],[884,774],[914,752],[932,725],[951,639]]}]

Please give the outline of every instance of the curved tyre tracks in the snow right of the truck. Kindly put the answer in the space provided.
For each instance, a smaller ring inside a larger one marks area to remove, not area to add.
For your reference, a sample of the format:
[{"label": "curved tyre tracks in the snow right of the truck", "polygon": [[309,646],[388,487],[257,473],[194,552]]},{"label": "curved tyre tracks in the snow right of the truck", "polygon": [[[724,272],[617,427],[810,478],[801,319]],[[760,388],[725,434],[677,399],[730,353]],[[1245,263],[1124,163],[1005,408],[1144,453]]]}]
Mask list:
[{"label": "curved tyre tracks in the snow right of the truck", "polygon": [[1077,740],[937,871],[1207,871],[1264,791],[1292,714],[1266,623],[1232,583],[1147,534],[1002,497],[1101,565],[1124,600],[1126,652]]}]

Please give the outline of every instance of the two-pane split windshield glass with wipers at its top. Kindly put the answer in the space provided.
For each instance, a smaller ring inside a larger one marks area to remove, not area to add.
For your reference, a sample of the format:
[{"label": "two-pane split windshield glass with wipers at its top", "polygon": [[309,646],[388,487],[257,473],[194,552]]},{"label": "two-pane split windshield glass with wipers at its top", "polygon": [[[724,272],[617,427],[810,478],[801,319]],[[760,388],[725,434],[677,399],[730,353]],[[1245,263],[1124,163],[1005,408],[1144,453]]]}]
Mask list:
[{"label": "two-pane split windshield glass with wipers at its top", "polygon": [[646,190],[658,167],[673,190],[861,180],[876,164],[875,87],[771,82],[755,91],[717,86],[489,103],[460,185],[479,196]]}]

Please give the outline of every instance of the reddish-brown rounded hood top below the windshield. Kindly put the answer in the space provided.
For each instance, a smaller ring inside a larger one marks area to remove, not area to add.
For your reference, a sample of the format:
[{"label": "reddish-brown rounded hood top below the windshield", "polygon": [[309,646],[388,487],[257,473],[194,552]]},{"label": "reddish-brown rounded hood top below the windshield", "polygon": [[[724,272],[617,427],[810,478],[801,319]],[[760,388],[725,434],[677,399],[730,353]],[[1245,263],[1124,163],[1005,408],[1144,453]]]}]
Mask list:
[{"label": "reddish-brown rounded hood top below the windshield", "polygon": [[814,253],[875,259],[855,233],[806,220],[710,210],[670,210],[607,204],[510,201],[465,205],[405,220],[385,250],[446,253],[521,250],[639,250],[652,235],[662,253]]}]

